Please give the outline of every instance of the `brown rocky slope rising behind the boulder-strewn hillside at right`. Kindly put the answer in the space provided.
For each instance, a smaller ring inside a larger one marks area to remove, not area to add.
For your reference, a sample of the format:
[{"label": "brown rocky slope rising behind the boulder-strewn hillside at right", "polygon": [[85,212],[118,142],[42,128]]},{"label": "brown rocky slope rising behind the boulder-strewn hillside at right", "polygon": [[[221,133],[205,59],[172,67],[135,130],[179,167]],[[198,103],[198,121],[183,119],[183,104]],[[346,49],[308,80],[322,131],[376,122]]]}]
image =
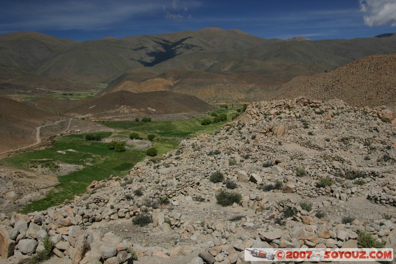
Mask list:
[{"label": "brown rocky slope rising behind the boulder-strewn hillside at right", "polygon": [[396,54],[373,55],[328,73],[298,76],[276,98],[339,98],[352,106],[396,106]]}]

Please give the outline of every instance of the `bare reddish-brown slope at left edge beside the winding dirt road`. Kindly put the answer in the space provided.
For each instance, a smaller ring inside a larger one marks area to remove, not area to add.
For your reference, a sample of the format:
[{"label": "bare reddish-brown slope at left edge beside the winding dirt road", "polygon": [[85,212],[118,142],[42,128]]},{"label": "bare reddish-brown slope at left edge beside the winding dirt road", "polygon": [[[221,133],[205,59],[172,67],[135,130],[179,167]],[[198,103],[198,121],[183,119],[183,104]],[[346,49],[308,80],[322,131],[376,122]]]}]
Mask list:
[{"label": "bare reddish-brown slope at left edge beside the winding dirt road", "polygon": [[62,118],[0,97],[0,152],[34,143],[36,127]]}]

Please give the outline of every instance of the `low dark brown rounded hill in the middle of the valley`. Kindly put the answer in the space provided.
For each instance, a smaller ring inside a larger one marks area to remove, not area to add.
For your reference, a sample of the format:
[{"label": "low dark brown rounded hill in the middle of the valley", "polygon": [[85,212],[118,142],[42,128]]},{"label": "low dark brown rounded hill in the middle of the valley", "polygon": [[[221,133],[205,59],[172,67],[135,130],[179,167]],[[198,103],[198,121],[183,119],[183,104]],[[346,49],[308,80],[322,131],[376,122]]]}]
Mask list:
[{"label": "low dark brown rounded hill in the middle of the valley", "polygon": [[194,96],[167,91],[132,93],[117,91],[86,102],[68,111],[91,118],[119,118],[140,114],[204,112],[213,107]]}]

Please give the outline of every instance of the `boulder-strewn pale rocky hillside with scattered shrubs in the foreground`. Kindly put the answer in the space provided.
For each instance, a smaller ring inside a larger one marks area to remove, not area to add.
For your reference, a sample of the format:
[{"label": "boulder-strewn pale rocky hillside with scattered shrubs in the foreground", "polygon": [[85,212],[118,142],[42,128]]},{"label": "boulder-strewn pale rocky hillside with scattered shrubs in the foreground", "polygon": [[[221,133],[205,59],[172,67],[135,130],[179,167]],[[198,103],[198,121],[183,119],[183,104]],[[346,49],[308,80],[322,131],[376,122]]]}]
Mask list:
[{"label": "boulder-strewn pale rocky hillside with scattered shrubs in the foreground", "polygon": [[[248,247],[354,248],[367,234],[395,249],[395,143],[388,109],[253,103],[220,132],[93,182],[74,201],[0,214],[0,253],[30,258],[47,235],[54,261],[73,264],[240,264]],[[221,200],[222,190],[240,201]]]}]

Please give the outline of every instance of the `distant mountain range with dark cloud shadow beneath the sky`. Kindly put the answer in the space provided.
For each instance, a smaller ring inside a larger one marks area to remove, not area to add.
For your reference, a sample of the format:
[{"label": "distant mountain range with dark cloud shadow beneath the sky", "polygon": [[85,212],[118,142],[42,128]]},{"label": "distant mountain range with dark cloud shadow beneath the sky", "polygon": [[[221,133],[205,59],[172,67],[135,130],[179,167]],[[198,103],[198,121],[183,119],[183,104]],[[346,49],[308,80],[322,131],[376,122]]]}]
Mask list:
[{"label": "distant mountain range with dark cloud shadow beneath the sky", "polygon": [[170,91],[207,103],[266,99],[300,75],[334,70],[373,54],[396,53],[396,35],[311,41],[262,39],[204,28],[77,42],[36,32],[0,35],[0,93],[49,95]]}]

